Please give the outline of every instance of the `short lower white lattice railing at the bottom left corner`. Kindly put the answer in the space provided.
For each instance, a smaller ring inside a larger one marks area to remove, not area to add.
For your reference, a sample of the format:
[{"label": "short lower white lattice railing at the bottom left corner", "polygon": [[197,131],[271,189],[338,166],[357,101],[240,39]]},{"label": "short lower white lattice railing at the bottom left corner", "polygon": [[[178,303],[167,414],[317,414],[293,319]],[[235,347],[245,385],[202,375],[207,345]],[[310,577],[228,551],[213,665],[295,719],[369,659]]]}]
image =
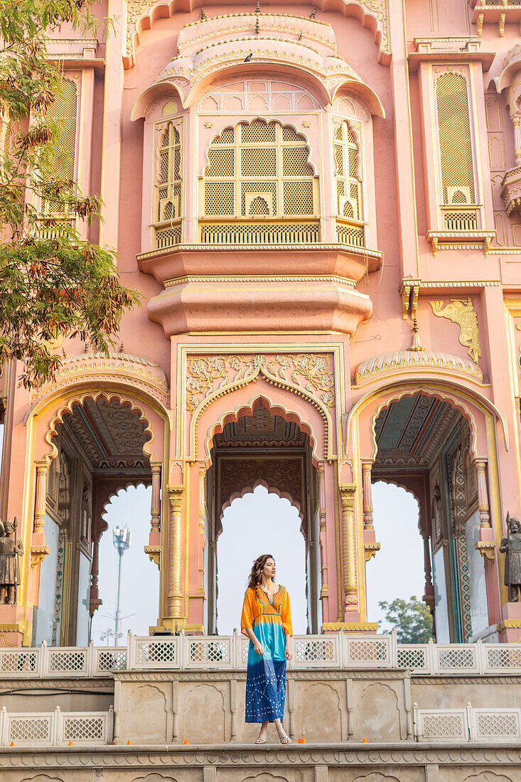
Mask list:
[{"label": "short lower white lattice railing at the bottom left corner", "polygon": [[0,746],[64,747],[108,744],[113,734],[113,708],[108,712],[0,711]]}]

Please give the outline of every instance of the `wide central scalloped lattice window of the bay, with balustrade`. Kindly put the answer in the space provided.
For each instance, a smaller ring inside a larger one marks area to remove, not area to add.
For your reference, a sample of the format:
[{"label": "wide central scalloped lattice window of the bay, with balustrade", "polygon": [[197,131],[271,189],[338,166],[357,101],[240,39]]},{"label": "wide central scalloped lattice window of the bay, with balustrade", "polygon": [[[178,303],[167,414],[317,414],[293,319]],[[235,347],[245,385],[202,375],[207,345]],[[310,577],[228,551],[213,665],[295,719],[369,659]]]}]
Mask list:
[{"label": "wide central scalloped lattice window of the bay, with balustrade", "polygon": [[214,139],[199,203],[201,242],[319,239],[318,177],[309,163],[306,139],[275,121],[242,122]]}]

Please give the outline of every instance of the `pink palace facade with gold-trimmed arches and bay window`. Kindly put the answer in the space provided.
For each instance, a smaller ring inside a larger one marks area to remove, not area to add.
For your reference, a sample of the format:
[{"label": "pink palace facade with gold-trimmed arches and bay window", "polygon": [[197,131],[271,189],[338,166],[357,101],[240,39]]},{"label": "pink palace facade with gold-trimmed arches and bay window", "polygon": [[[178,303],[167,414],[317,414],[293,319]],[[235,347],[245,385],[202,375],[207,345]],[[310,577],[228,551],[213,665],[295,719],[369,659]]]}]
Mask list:
[{"label": "pink palace facade with gold-trimmed arches and bay window", "polygon": [[222,513],[261,483],[302,520],[309,630],[375,633],[376,480],[418,500],[437,640],[519,640],[499,542],[521,512],[521,6],[106,13],[108,40],[49,45],[55,110],[105,204],[78,228],[142,306],[110,356],[59,346],[31,393],[2,375],[25,553],[0,640],[88,641],[102,515],[138,482],[152,630],[214,632]]}]

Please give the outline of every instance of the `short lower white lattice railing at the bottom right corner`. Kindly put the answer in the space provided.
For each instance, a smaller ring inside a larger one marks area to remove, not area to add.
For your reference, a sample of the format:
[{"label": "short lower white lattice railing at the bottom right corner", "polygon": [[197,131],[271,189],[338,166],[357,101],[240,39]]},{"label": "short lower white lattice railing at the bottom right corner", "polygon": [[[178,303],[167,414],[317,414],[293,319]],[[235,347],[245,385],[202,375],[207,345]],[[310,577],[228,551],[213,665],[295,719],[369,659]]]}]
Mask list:
[{"label": "short lower white lattice railing at the bottom right corner", "polygon": [[418,708],[413,706],[418,741],[519,741],[520,708]]}]

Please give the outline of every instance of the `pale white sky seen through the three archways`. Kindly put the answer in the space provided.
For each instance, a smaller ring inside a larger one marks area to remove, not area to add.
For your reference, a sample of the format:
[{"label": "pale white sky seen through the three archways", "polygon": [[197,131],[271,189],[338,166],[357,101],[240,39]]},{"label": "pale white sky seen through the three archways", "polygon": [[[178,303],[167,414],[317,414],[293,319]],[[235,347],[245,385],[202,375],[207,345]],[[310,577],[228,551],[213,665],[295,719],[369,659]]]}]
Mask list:
[{"label": "pale white sky seen through the three archways", "polygon": [[[418,531],[418,505],[411,494],[383,482],[372,487],[376,540],[381,550],[366,565],[368,581],[368,620],[383,619],[379,601],[395,597],[408,600],[421,597],[425,583],[423,543]],[[158,616],[159,571],[149,561],[143,547],[148,544],[150,528],[150,488],[131,487],[114,497],[106,513],[109,529],[99,547],[99,591],[103,604],[92,621],[92,640],[104,645],[100,634],[114,628],[117,590],[117,552],[113,547],[112,529],[128,524],[132,539],[124,554],[121,587],[121,613],[126,643],[127,630],[148,635],[149,626]],[[277,564],[277,581],[289,592],[293,631],[305,633],[307,627],[304,576],[304,538],[300,518],[288,500],[268,494],[259,486],[225,511],[223,532],[217,543],[218,588],[217,628],[222,635],[239,628],[253,559],[259,554],[273,554]],[[383,626],[380,631],[385,630]],[[110,639],[113,645],[113,639]]]}]

